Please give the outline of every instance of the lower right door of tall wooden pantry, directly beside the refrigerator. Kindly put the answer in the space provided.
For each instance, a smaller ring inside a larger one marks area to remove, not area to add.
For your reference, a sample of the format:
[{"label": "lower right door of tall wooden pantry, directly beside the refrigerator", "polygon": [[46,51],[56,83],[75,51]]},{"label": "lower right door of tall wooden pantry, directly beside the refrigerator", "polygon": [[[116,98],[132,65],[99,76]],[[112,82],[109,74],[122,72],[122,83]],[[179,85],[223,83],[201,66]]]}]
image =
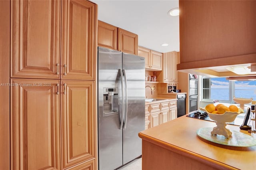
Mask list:
[{"label": "lower right door of tall wooden pantry, directly beside the refrigerator", "polygon": [[61,82],[63,169],[95,158],[94,90],[93,81]]}]

